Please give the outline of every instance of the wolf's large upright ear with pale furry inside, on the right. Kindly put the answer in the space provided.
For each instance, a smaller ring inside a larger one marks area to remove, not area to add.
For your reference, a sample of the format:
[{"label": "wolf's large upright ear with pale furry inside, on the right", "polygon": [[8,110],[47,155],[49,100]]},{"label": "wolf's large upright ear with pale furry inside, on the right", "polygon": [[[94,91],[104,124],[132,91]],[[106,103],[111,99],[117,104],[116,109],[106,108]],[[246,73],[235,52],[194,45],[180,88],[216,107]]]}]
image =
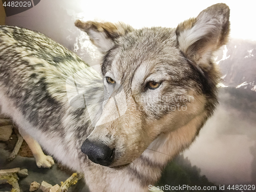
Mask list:
[{"label": "wolf's large upright ear with pale furry inside, on the right", "polygon": [[228,34],[229,8],[222,3],[208,7],[176,29],[180,50],[206,72],[211,69],[213,53],[227,43]]}]

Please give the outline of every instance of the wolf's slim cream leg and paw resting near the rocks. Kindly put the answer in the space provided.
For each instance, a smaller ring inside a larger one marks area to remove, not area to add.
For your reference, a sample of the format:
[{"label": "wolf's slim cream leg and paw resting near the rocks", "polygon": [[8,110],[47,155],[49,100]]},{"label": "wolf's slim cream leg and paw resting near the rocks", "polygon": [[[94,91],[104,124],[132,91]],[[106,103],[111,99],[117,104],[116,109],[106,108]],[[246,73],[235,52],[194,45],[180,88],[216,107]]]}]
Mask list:
[{"label": "wolf's slim cream leg and paw resting near the rocks", "polygon": [[25,131],[19,129],[19,133],[29,145],[29,148],[35,157],[36,165],[38,167],[50,168],[54,164],[53,158],[45,155],[44,152],[42,152],[42,148],[39,143]]}]

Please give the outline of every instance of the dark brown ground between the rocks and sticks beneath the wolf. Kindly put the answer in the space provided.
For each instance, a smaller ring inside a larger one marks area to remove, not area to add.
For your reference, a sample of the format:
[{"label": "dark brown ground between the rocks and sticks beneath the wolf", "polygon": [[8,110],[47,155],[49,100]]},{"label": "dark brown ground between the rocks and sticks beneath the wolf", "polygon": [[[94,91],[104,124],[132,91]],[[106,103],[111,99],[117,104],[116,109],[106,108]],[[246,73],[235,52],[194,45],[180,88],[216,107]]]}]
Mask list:
[{"label": "dark brown ground between the rocks and sticks beneath the wolf", "polygon": [[[8,141],[0,142],[0,170],[11,169],[19,167],[20,169],[28,169],[28,176],[25,178],[19,178],[18,184],[20,192],[29,191],[32,182],[36,181],[41,184],[45,181],[51,185],[61,185],[61,181],[66,181],[73,173],[67,168],[59,165],[55,161],[55,165],[52,168],[38,168],[33,158],[32,152],[30,151],[27,143],[23,141],[22,147],[20,148],[18,155],[12,161],[8,161],[14,145],[17,141],[17,136],[12,132]],[[0,191],[10,191],[8,184],[0,184]],[[87,186],[84,184],[83,179],[80,179],[76,185],[72,185],[68,191],[74,192],[88,192]],[[36,192],[42,192],[39,188]]]}]

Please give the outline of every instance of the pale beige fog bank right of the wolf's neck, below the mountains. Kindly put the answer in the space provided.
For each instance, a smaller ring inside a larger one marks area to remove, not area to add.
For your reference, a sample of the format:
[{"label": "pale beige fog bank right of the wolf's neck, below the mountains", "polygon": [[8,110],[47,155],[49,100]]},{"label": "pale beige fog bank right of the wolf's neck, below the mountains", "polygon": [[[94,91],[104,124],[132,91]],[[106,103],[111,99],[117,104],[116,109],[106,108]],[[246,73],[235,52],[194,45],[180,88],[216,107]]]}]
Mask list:
[{"label": "pale beige fog bank right of the wolf's neck, below the mountains", "polygon": [[212,182],[256,183],[255,127],[250,117],[220,104],[184,156]]}]

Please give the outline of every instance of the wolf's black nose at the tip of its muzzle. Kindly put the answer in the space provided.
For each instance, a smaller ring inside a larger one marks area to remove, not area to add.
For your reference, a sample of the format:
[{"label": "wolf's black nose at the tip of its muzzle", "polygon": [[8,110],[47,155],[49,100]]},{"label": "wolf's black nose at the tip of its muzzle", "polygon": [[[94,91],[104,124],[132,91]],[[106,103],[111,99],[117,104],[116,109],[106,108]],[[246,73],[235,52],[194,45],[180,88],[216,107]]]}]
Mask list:
[{"label": "wolf's black nose at the tip of its muzzle", "polygon": [[110,148],[103,143],[86,139],[82,144],[81,150],[92,162],[103,166],[111,165],[114,160],[115,148]]}]

